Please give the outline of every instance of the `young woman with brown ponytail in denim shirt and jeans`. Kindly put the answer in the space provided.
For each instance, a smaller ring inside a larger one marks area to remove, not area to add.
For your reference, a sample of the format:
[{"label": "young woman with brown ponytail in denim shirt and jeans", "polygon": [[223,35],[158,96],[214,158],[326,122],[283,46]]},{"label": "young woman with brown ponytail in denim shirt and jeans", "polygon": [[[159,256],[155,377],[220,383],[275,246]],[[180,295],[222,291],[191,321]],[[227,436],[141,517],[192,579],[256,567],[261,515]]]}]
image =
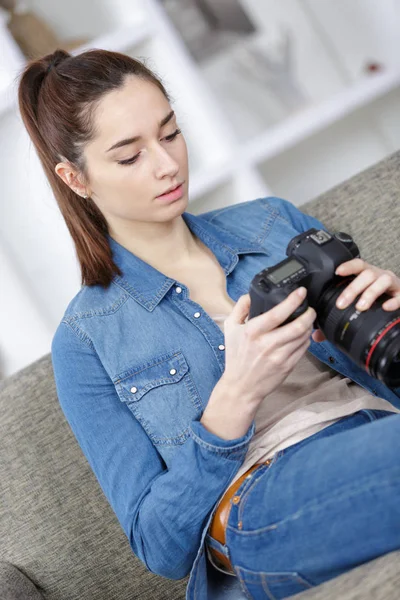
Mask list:
[{"label": "young woman with brown ponytail in denim shirt and jeans", "polygon": [[[190,575],[187,598],[261,599],[397,549],[400,391],[312,308],[279,327],[305,290],[247,318],[254,275],[323,224],[269,197],[187,212],[178,115],[123,54],[32,61],[19,106],[82,273],[52,343],[59,401],[134,554]],[[347,303],[400,306],[390,271],[338,273]]]}]

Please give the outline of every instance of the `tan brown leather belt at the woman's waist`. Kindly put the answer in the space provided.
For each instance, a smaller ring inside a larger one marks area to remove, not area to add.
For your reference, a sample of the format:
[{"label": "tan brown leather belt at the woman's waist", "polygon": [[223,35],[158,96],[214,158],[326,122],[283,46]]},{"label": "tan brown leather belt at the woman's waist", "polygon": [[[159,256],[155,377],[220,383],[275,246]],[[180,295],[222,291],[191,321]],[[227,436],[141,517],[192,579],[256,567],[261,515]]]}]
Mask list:
[{"label": "tan brown leather belt at the woman's waist", "polygon": [[[250,469],[248,469],[243,475],[238,477],[236,481],[232,483],[231,486],[226,490],[225,494],[222,496],[217,510],[214,513],[210,526],[208,528],[209,535],[225,545],[225,529],[228,523],[229,513],[231,510],[232,504],[238,504],[240,501],[240,496],[235,495],[236,491],[239,489],[243,481],[251,474],[252,471],[257,469],[260,465],[269,465],[272,459],[268,459],[262,463],[256,463]],[[240,527],[240,524],[239,524]],[[212,562],[215,563],[215,566],[221,570],[227,570],[231,575],[236,575],[235,570],[231,564],[231,561],[225,554],[219,552],[213,548],[210,544],[207,544],[207,549],[209,554],[211,554]]]}]

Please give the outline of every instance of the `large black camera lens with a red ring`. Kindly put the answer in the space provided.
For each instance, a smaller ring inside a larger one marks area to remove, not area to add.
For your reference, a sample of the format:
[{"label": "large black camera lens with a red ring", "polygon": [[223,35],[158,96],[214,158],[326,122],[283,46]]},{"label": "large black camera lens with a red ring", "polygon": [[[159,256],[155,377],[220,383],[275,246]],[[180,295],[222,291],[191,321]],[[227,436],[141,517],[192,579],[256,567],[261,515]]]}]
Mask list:
[{"label": "large black camera lens with a red ring", "polygon": [[400,386],[400,310],[387,311],[382,304],[390,298],[382,294],[365,311],[354,302],[345,309],[336,300],[354,276],[334,278],[321,294],[316,312],[325,337],[370,375],[389,387]]}]

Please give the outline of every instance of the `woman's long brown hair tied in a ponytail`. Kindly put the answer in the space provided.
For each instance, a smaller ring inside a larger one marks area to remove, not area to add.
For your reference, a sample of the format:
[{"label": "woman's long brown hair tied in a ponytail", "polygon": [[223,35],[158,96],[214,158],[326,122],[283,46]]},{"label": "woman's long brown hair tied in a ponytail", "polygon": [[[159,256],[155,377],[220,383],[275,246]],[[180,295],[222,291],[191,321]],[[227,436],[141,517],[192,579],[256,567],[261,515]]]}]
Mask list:
[{"label": "woman's long brown hair tied in a ponytail", "polygon": [[69,161],[88,180],[83,146],[94,135],[93,111],[102,96],[124,84],[126,75],[154,83],[170,101],[159,77],[144,62],[119,52],[88,50],[76,56],[57,49],[28,62],[20,77],[23,123],[75,244],[82,285],[108,287],[122,275],[112,259],[108,225],[90,198],[76,194],[55,172]]}]

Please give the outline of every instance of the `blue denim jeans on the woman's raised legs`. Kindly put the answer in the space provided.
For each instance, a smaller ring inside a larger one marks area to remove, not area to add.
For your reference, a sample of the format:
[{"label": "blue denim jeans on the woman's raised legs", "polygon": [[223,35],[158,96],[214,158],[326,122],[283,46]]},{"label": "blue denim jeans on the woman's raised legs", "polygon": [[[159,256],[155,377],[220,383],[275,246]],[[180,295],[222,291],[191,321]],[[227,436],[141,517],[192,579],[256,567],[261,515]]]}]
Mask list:
[{"label": "blue denim jeans on the woman's raised legs", "polygon": [[236,496],[224,550],[249,598],[287,598],[396,550],[400,414],[344,417],[277,452]]}]

